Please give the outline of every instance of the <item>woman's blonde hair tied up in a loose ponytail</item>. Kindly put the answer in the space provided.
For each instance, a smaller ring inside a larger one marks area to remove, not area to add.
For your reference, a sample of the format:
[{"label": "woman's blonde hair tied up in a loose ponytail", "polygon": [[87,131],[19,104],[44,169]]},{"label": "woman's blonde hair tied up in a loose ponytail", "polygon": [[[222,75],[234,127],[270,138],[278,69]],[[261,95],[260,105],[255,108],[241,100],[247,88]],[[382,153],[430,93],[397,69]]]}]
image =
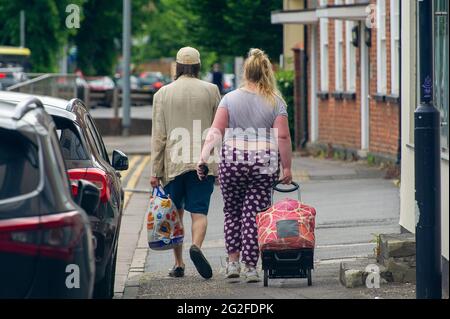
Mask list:
[{"label": "woman's blonde hair tied up in a loose ponytail", "polygon": [[245,60],[242,86],[248,83],[255,84],[259,93],[272,106],[276,105],[276,97],[283,100],[283,96],[277,88],[272,63],[267,54],[260,49],[250,49]]}]

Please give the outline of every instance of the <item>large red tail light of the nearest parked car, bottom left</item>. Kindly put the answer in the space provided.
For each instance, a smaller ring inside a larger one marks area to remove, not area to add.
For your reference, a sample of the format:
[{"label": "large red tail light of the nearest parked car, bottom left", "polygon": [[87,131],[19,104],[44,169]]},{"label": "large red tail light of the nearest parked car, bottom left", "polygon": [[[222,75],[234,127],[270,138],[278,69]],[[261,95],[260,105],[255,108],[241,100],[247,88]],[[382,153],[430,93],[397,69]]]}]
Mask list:
[{"label": "large red tail light of the nearest parked car, bottom left", "polygon": [[78,212],[0,221],[0,252],[71,261],[84,232]]}]

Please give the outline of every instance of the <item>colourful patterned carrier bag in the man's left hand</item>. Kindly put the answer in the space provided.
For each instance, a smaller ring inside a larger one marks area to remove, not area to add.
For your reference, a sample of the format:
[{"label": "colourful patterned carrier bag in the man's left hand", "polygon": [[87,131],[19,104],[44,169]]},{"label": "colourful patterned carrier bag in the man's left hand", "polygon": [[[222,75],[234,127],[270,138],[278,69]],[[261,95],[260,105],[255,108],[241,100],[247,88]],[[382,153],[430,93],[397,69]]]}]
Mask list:
[{"label": "colourful patterned carrier bag in the man's left hand", "polygon": [[172,249],[183,243],[184,231],[177,209],[161,187],[153,189],[147,214],[148,246],[153,250]]}]

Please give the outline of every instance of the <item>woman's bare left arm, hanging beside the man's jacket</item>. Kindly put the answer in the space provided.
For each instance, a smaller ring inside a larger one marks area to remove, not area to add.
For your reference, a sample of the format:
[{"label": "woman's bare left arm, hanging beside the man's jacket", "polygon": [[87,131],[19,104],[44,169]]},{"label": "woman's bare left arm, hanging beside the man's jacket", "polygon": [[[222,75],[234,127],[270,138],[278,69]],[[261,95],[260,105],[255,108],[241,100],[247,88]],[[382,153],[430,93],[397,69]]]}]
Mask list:
[{"label": "woman's bare left arm, hanging beside the man's jacket", "polygon": [[208,131],[208,135],[203,144],[201,163],[207,163],[212,149],[222,142],[225,129],[228,127],[228,110],[225,107],[219,107],[214,117],[213,124]]}]

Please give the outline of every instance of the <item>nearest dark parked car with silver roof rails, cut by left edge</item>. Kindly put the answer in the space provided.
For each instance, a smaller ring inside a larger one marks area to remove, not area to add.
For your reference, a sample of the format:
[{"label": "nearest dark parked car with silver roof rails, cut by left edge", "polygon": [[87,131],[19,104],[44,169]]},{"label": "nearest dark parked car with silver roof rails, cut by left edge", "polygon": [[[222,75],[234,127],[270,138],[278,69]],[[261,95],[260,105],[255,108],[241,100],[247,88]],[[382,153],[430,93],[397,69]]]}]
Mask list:
[{"label": "nearest dark parked car with silver roof rails, cut by left edge", "polygon": [[36,98],[0,101],[0,140],[0,299],[91,298],[86,213],[98,188],[80,181],[72,198],[55,123]]}]

